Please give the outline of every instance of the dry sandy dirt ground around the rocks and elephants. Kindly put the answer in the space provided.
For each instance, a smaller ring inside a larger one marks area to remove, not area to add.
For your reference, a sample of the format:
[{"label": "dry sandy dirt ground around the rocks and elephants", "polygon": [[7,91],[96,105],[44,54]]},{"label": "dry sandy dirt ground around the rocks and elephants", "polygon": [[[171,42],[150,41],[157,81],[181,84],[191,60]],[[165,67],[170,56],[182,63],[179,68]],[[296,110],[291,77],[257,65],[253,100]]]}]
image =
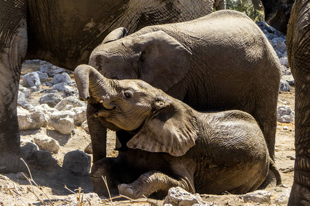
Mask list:
[{"label": "dry sandy dirt ground around the rocks and elephants", "polygon": [[[23,70],[23,72],[27,72]],[[33,98],[37,98],[32,94]],[[287,104],[294,109],[294,88],[291,91],[279,93],[279,105]],[[287,129],[284,129],[284,127]],[[41,128],[40,130],[25,130],[21,131],[21,141],[32,139],[34,135],[46,134],[53,137],[61,146],[57,154],[52,156],[57,159],[59,165],[62,165],[63,157],[66,152],[72,150],[84,150],[90,143],[90,135],[80,127],[76,127],[71,135],[61,135],[52,128]],[[107,155],[116,157],[117,152],[114,151],[114,133],[109,131],[107,141]],[[276,166],[280,169],[282,175],[282,183],[285,186],[271,187],[267,191],[271,193],[271,201],[276,199],[282,192],[288,190],[293,183],[293,165],[295,159],[294,150],[294,124],[282,124],[278,122],[276,133]],[[21,174],[0,174],[0,205],[79,205],[78,199],[82,200],[82,195],[79,196],[79,191],[75,190],[81,187],[84,193],[84,205],[112,205],[106,203],[103,198],[92,193],[92,185],[90,176],[74,176],[59,168],[59,170],[41,171],[32,170],[32,179],[37,186],[31,186],[27,179]],[[32,183],[34,185],[34,183]],[[72,194],[70,190],[76,194]],[[9,188],[9,189],[8,189]],[[34,192],[33,192],[34,191]],[[214,205],[265,205],[260,203],[242,203],[242,200],[236,195],[208,196],[203,195],[203,201]],[[50,201],[48,200],[50,198]],[[141,200],[145,201],[145,199]],[[158,205],[163,205],[163,201],[150,200]],[[82,205],[82,204],[80,204]],[[114,201],[114,205],[149,205],[149,203],[134,203],[130,201]],[[267,204],[268,205],[268,204]]]}]

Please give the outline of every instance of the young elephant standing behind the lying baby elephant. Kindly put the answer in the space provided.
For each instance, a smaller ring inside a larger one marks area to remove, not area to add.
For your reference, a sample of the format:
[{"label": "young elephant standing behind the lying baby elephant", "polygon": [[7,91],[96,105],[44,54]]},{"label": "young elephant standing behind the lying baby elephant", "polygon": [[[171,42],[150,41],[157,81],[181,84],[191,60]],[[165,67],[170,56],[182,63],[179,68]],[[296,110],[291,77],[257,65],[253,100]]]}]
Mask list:
[{"label": "young elephant standing behind the lying baby elephant", "polygon": [[[107,78],[144,80],[198,111],[250,113],[274,158],[280,63],[249,17],[223,10],[121,38],[123,31],[111,32],[94,49],[89,65]],[[89,101],[87,122],[96,162],[105,157],[106,129],[93,115],[101,105]]]}]

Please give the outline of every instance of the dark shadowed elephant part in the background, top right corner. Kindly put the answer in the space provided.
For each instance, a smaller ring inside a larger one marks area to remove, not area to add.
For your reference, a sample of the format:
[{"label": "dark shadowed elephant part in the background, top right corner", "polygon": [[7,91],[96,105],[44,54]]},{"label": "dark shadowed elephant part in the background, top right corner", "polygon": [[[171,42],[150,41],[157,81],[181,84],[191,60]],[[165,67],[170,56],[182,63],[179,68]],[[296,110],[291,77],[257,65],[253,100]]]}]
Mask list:
[{"label": "dark shadowed elephant part in the background, top right corner", "polygon": [[276,28],[276,30],[286,34],[289,15],[295,0],[252,0],[254,7],[264,10],[265,21]]}]

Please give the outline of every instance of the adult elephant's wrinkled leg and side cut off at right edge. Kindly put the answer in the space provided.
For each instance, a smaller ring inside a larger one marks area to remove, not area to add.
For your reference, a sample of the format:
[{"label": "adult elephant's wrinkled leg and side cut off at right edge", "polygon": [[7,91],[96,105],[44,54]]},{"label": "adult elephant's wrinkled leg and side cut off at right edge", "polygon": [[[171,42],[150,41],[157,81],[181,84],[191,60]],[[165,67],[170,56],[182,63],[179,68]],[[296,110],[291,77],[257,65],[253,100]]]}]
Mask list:
[{"label": "adult elephant's wrinkled leg and side cut off at right edge", "polygon": [[289,205],[310,205],[310,1],[296,0],[287,30],[287,54],[295,79],[294,181]]}]

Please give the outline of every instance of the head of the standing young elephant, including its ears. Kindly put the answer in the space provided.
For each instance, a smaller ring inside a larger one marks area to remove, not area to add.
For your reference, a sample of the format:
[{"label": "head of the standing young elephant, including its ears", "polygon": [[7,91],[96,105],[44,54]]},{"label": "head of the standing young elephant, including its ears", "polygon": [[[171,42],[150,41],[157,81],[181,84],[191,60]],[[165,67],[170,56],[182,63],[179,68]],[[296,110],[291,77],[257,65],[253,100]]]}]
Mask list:
[{"label": "head of the standing young elephant, including its ears", "polygon": [[125,33],[125,28],[111,32],[89,64],[107,78],[141,79],[163,91],[185,77],[192,53],[175,38],[162,31],[122,38]]}]

